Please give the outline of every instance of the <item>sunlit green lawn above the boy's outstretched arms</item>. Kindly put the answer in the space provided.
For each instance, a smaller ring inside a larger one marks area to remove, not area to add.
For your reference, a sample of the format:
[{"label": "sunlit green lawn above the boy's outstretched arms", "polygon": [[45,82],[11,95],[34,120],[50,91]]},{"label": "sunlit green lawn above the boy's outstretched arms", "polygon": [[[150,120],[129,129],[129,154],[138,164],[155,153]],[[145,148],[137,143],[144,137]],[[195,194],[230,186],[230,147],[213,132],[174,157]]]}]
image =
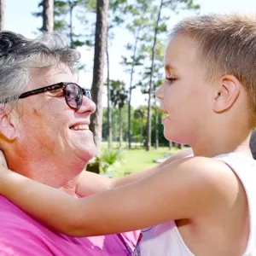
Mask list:
[{"label": "sunlit green lawn above the boy's outstretched arms", "polygon": [[164,154],[173,154],[178,149],[174,148],[152,148],[149,152],[145,149],[124,149],[121,162],[111,168],[113,177],[124,177],[132,172],[141,172],[150,167],[156,166],[154,159],[162,158]]}]

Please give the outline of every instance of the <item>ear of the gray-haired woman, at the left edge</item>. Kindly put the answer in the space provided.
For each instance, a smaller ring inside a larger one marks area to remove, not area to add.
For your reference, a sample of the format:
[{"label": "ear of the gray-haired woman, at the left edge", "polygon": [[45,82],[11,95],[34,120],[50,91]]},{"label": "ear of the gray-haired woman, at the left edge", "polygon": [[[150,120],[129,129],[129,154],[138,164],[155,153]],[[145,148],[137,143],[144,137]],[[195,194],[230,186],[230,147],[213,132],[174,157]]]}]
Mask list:
[{"label": "ear of the gray-haired woman, at the left edge", "polygon": [[0,135],[7,141],[13,141],[17,137],[16,120],[17,116],[12,111],[0,104]]}]

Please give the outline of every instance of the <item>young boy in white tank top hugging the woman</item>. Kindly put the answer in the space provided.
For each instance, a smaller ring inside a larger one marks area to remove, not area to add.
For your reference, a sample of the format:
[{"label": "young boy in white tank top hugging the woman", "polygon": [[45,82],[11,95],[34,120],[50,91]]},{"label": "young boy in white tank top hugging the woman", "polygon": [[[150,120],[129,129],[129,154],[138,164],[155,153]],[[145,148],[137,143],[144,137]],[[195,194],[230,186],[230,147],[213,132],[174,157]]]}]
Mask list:
[{"label": "young boy in white tank top hugging the woman", "polygon": [[194,156],[79,200],[2,168],[1,194],[70,236],[154,226],[143,232],[142,255],[256,255],[256,162],[248,143],[255,58],[255,16],[181,21],[156,96],[167,114],[165,137],[189,144]]}]

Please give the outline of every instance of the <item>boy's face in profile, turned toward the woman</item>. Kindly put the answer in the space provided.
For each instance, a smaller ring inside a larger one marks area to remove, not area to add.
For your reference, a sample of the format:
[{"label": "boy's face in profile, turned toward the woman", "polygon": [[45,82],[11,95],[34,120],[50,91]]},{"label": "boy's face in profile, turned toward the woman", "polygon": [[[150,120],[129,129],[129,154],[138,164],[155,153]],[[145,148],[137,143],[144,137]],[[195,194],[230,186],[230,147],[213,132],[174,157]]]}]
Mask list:
[{"label": "boy's face in profile, turned toward the woman", "polygon": [[202,135],[212,112],[212,84],[205,81],[197,45],[190,38],[172,38],[166,48],[166,79],[156,92],[160,109],[168,114],[162,120],[166,139],[191,144]]}]

